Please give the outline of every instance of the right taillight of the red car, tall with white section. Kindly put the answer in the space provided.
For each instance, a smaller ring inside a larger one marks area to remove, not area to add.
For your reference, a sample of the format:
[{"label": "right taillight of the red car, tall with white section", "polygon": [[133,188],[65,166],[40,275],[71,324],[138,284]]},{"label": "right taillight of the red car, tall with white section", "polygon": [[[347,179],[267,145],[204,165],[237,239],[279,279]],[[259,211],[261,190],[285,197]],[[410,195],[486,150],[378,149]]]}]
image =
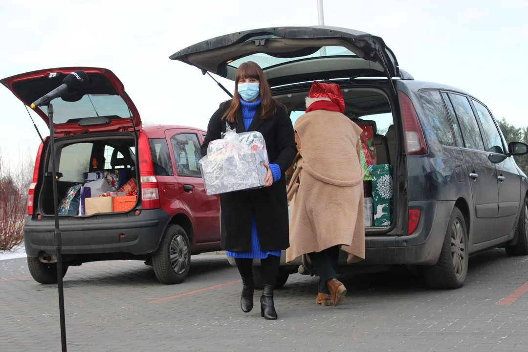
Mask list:
[{"label": "right taillight of the red car, tall with white section", "polygon": [[143,133],[139,135],[138,150],[142,206],[143,209],[157,209],[161,206],[158,181],[154,176],[154,164],[148,138]]}]

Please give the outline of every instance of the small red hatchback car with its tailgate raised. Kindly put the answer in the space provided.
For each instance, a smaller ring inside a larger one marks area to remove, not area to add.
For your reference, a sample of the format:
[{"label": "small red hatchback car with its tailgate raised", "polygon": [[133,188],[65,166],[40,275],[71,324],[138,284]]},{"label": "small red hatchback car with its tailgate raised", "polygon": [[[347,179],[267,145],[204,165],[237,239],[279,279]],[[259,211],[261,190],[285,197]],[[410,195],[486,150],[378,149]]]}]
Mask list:
[{"label": "small red hatchback car with its tailgate raised", "polygon": [[[162,283],[180,283],[191,254],[220,249],[220,201],[205,193],[198,165],[205,131],[142,125],[123,84],[107,69],[49,69],[0,82],[29,106],[76,70],[88,74],[88,87],[52,101],[58,194],[52,190],[49,137],[35,161],[24,227],[31,275],[56,282],[58,197],[64,274],[91,261],[144,260]],[[49,123],[46,107],[35,112]],[[108,175],[113,183],[97,183]],[[80,187],[90,180],[91,197],[83,197]]]}]

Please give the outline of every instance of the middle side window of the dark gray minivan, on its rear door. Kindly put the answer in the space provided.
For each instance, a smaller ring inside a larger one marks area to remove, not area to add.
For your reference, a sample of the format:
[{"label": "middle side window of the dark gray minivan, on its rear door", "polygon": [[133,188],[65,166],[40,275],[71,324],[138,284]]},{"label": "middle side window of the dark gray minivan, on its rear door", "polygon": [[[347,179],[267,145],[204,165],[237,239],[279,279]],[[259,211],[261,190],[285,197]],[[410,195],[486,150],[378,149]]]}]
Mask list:
[{"label": "middle side window of the dark gray minivan, on its rear door", "polygon": [[[484,151],[484,142],[469,100],[460,94],[448,93],[448,96],[458,118],[458,123],[460,123],[464,146],[468,149]],[[449,101],[446,101],[446,104],[449,104]]]}]

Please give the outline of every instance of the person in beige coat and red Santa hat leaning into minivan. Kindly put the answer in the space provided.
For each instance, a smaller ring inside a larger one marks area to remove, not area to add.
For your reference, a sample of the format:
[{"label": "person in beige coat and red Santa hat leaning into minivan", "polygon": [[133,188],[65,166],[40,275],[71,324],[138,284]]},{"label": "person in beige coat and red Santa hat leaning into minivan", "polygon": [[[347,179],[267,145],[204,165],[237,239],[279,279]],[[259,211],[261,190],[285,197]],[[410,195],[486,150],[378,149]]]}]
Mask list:
[{"label": "person in beige coat and red Santa hat leaning into minivan", "polygon": [[295,122],[297,156],[288,170],[290,247],[286,261],[307,254],[319,275],[316,303],[337,306],[346,288],[337,280],[340,248],[348,263],[365,258],[362,129],[343,115],[338,84],[314,82],[306,113]]}]

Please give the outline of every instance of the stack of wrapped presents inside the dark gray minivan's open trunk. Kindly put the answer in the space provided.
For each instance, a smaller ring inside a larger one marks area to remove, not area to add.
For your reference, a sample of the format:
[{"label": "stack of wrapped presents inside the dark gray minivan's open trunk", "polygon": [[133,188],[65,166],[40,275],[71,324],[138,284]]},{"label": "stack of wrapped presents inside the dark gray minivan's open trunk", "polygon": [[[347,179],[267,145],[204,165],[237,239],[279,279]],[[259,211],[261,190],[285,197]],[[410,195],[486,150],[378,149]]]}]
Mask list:
[{"label": "stack of wrapped presents inside the dark gray minivan's open trunk", "polygon": [[363,192],[365,226],[390,226],[392,216],[392,165],[376,164],[376,146],[372,126],[360,126],[360,164],[365,172]]}]

